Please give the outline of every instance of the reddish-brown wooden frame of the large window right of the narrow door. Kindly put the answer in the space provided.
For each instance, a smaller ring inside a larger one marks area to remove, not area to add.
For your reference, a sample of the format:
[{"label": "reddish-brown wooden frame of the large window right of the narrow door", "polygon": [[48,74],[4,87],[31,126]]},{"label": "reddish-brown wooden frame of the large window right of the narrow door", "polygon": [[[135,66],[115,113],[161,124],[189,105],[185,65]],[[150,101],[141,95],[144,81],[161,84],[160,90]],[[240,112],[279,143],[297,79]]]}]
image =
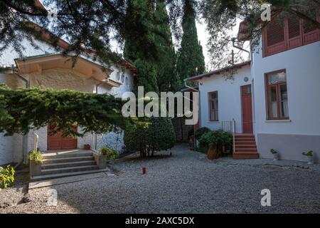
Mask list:
[{"label": "reddish-brown wooden frame of the large window right of the narrow door", "polygon": [[[280,83],[273,83],[269,84],[268,83],[268,77],[274,73],[285,73],[286,75],[286,81],[285,82],[280,82]],[[287,87],[287,71],[286,69],[281,69],[277,71],[271,71],[265,73],[265,98],[266,98],[266,120],[289,120],[289,107],[288,107],[288,116],[287,117],[281,117],[281,93],[280,93],[280,87],[285,85]],[[272,118],[270,115],[270,98],[269,98],[269,88],[275,87],[276,88],[276,98],[277,98],[277,118]],[[288,88],[287,88],[287,93],[288,93]],[[288,96],[289,97],[289,96]],[[287,98],[289,100],[289,98]]]}]

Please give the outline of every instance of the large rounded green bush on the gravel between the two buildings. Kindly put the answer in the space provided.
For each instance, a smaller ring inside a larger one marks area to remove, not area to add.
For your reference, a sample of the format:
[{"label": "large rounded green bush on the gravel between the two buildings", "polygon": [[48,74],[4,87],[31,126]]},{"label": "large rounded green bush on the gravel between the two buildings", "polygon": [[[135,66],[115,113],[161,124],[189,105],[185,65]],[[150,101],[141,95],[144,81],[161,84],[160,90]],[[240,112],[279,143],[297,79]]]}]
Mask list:
[{"label": "large rounded green bush on the gravel between the two buildings", "polygon": [[124,145],[138,150],[141,157],[168,150],[175,143],[174,127],[170,118],[137,118],[124,130]]}]

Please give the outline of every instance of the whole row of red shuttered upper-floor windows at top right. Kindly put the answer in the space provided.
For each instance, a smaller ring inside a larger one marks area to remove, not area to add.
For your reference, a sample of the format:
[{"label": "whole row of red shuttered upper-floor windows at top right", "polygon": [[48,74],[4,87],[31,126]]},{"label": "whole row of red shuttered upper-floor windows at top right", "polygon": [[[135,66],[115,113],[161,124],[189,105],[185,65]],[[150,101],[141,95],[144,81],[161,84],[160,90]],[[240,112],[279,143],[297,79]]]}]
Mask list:
[{"label": "whole row of red shuttered upper-floor windows at top right", "polygon": [[[320,21],[319,12],[309,12],[309,16]],[[304,46],[320,40],[320,29],[309,21],[297,16],[275,16],[263,30],[265,56]]]}]

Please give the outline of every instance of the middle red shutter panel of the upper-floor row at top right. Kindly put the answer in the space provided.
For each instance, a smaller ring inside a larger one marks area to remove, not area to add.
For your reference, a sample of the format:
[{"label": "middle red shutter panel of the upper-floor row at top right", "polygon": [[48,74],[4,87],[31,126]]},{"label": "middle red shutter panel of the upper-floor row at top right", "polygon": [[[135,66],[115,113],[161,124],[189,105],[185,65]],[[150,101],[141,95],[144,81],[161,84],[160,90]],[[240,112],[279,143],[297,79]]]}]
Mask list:
[{"label": "middle red shutter panel of the upper-floor row at top right", "polygon": [[302,46],[302,20],[297,16],[289,16],[288,23],[288,49]]}]

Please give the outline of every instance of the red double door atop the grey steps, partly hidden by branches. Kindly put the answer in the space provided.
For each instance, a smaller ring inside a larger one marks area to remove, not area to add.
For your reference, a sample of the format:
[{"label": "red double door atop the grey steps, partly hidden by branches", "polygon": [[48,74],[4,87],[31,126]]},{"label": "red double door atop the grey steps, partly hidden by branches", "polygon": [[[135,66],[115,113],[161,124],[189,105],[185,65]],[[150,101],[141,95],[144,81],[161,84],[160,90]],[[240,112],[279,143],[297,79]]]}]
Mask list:
[{"label": "red double door atop the grey steps, partly hidden by branches", "polygon": [[[75,127],[74,130],[77,130]],[[69,150],[77,148],[77,139],[63,137],[62,133],[50,135],[50,128],[48,127],[48,150]]]}]

